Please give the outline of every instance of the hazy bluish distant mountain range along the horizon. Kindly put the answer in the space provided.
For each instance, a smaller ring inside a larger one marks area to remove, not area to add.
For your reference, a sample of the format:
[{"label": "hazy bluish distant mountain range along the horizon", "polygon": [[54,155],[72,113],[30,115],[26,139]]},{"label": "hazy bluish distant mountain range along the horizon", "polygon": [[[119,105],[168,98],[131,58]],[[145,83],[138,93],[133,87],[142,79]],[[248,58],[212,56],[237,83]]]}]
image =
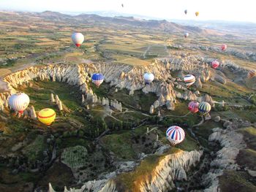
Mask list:
[{"label": "hazy bluish distant mountain range along the horizon", "polygon": [[[95,14],[97,13],[97,14]],[[197,34],[256,34],[256,23],[236,23],[223,21],[192,21],[192,20],[159,20],[151,19],[141,15],[129,16],[129,14],[121,15],[118,12],[87,12],[86,14],[78,13],[60,13],[60,12],[0,12],[0,20],[3,20],[7,15],[23,15],[24,17],[37,16],[50,20],[79,20],[83,23],[91,23],[94,25],[116,25],[130,26],[135,28],[148,28],[161,30],[166,32],[191,32]],[[108,16],[101,16],[108,15]],[[116,16],[117,15],[117,16]],[[111,17],[110,17],[111,16]],[[29,19],[29,18],[28,18]]]}]

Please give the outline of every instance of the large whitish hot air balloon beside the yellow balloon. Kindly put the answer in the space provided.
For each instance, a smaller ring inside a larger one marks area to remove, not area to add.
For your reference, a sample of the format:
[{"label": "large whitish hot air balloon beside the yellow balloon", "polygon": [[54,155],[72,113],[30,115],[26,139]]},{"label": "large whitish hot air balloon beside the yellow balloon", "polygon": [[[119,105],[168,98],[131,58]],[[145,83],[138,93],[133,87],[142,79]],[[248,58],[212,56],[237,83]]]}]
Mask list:
[{"label": "large whitish hot air balloon beside the yellow balloon", "polygon": [[29,96],[26,93],[15,93],[10,96],[8,104],[12,110],[22,114],[26,107],[29,106]]}]

